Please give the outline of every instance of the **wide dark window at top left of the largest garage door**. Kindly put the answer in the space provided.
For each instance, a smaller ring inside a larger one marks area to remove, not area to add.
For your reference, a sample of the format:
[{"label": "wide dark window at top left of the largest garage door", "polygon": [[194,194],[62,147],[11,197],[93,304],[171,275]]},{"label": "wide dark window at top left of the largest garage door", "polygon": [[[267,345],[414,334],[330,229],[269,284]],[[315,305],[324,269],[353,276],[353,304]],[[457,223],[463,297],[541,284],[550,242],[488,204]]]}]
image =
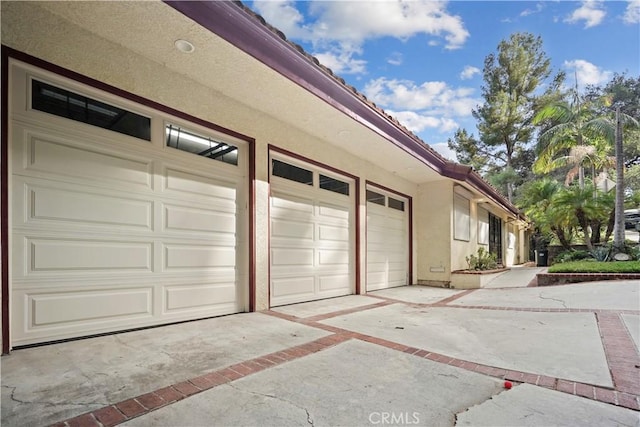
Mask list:
[{"label": "wide dark window at top left of the largest garage door", "polygon": [[31,108],[151,141],[151,119],[38,80],[31,82]]}]

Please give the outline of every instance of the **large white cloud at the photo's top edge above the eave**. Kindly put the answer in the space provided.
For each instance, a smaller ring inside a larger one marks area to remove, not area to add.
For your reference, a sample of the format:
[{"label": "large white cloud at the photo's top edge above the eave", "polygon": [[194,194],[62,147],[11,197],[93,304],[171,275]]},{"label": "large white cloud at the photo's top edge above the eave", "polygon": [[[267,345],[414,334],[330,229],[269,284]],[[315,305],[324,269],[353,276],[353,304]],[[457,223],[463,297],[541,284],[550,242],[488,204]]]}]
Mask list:
[{"label": "large white cloud at the photo's top edge above the eave", "polygon": [[252,6],[288,38],[312,43],[313,54],[336,72],[365,71],[366,63],[354,63],[353,55],[367,40],[424,34],[433,37],[429,45],[441,41],[446,49],[458,49],[469,37],[462,18],[447,11],[447,2],[312,0],[306,19],[291,0],[254,1]]}]

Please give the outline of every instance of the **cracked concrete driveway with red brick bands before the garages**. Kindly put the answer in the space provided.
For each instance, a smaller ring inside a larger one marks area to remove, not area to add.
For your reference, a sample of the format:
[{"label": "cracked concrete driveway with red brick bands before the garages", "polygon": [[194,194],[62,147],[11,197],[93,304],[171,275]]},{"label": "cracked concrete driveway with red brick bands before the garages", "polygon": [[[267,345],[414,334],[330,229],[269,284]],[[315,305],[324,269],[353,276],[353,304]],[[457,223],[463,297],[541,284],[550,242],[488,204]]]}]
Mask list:
[{"label": "cracked concrete driveway with red brick bands before the garages", "polygon": [[17,350],[1,422],[637,426],[639,333],[637,281],[409,286]]}]

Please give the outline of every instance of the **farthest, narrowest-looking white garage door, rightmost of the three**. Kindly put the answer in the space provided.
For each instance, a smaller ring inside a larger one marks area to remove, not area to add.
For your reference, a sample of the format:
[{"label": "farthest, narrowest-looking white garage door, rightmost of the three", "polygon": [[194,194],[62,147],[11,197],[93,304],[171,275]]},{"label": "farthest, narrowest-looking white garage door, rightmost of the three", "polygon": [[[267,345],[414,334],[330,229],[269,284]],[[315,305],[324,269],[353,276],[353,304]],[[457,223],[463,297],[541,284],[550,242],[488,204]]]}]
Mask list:
[{"label": "farthest, narrowest-looking white garage door, rightmost of the three", "polygon": [[407,200],[367,188],[367,290],[409,284]]}]

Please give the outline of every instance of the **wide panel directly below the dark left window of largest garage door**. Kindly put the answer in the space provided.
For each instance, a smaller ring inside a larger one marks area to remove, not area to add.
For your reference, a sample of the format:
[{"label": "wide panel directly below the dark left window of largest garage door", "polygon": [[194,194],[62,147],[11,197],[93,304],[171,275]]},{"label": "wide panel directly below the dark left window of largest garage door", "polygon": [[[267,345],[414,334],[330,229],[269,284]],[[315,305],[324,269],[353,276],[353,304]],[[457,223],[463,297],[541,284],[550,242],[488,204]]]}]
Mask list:
[{"label": "wide panel directly below the dark left window of largest garage door", "polygon": [[[150,160],[72,145],[69,138],[58,141],[33,133],[26,137],[27,149],[23,151],[17,147],[19,153],[24,153],[24,158],[17,164],[24,168],[14,170],[14,173],[36,171],[89,181],[152,187],[153,164]],[[82,143],[76,141],[76,144]]]}]

